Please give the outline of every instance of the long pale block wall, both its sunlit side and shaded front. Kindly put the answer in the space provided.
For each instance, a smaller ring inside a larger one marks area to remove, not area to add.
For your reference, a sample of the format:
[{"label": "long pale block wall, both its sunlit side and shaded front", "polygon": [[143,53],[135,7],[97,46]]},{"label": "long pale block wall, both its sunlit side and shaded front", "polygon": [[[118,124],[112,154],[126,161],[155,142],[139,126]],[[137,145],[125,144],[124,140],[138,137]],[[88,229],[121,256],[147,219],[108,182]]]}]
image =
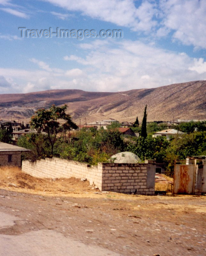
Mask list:
[{"label": "long pale block wall, both its sunlit side and shaded front", "polygon": [[142,195],[155,194],[155,162],[147,164],[99,163],[97,166],[46,158],[22,161],[22,171],[39,178],[86,178],[100,190]]}]

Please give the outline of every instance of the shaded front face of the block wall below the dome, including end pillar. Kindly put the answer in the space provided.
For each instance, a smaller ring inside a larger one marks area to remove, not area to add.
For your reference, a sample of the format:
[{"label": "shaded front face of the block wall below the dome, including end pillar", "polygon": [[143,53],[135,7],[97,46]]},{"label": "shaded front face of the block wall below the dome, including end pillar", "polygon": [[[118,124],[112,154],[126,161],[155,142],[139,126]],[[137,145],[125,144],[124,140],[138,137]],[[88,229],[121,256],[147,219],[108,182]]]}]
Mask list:
[{"label": "shaded front face of the block wall below the dome, including end pillar", "polygon": [[140,195],[155,194],[155,163],[102,164],[102,190]]}]

